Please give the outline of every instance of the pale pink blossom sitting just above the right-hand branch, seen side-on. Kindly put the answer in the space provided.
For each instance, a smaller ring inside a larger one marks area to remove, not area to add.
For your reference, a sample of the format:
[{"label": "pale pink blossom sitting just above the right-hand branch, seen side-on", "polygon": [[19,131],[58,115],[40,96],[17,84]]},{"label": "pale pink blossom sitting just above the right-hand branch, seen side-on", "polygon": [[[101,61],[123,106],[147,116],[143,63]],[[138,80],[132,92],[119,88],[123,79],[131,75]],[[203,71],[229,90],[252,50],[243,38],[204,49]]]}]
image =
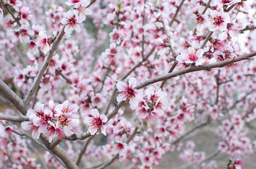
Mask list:
[{"label": "pale pink blossom sitting just above the right-hand branch, seen side-on", "polygon": [[176,60],[180,63],[195,63],[196,66],[200,65],[203,60],[203,49],[188,48],[186,53],[181,53],[176,57]]}]

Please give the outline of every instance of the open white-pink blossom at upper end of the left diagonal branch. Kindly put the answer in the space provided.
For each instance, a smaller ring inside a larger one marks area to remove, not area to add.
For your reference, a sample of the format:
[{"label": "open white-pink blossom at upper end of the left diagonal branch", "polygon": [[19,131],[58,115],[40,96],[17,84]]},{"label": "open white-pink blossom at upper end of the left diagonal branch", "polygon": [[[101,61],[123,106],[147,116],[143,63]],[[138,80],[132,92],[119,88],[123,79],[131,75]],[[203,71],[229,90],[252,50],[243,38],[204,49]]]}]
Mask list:
[{"label": "open white-pink blossom at upper end of the left diagonal branch", "polygon": [[65,27],[65,32],[67,34],[71,34],[73,30],[76,30],[76,32],[80,32],[81,29],[80,29],[80,19],[77,18],[77,16],[75,16],[73,14],[72,11],[68,11],[67,13],[65,13],[65,18],[61,19],[61,23],[63,25],[66,25]]}]

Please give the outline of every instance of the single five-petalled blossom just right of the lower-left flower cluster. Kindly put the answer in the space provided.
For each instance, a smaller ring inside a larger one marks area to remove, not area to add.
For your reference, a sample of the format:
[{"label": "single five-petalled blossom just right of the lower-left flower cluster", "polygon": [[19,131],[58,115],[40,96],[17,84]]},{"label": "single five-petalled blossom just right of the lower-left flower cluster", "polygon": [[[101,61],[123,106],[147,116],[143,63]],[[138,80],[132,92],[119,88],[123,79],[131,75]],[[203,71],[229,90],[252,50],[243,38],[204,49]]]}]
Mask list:
[{"label": "single five-petalled blossom just right of the lower-left flower cluster", "polygon": [[107,116],[99,113],[97,109],[91,110],[92,116],[86,116],[83,122],[89,127],[89,132],[91,135],[99,134],[98,130],[101,129],[101,133],[106,136],[106,127],[104,123],[107,122]]}]

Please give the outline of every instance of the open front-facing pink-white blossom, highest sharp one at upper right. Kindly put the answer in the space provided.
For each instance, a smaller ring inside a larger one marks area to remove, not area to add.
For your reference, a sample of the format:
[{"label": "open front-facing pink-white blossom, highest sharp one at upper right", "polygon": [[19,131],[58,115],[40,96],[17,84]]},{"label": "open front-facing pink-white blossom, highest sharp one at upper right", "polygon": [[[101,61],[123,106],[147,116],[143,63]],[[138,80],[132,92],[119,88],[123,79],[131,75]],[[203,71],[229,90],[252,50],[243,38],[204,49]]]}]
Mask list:
[{"label": "open front-facing pink-white blossom, highest sharp one at upper right", "polygon": [[210,31],[214,31],[217,29],[219,29],[220,31],[224,31],[227,29],[227,23],[229,23],[230,19],[227,12],[210,11],[210,16]]}]

